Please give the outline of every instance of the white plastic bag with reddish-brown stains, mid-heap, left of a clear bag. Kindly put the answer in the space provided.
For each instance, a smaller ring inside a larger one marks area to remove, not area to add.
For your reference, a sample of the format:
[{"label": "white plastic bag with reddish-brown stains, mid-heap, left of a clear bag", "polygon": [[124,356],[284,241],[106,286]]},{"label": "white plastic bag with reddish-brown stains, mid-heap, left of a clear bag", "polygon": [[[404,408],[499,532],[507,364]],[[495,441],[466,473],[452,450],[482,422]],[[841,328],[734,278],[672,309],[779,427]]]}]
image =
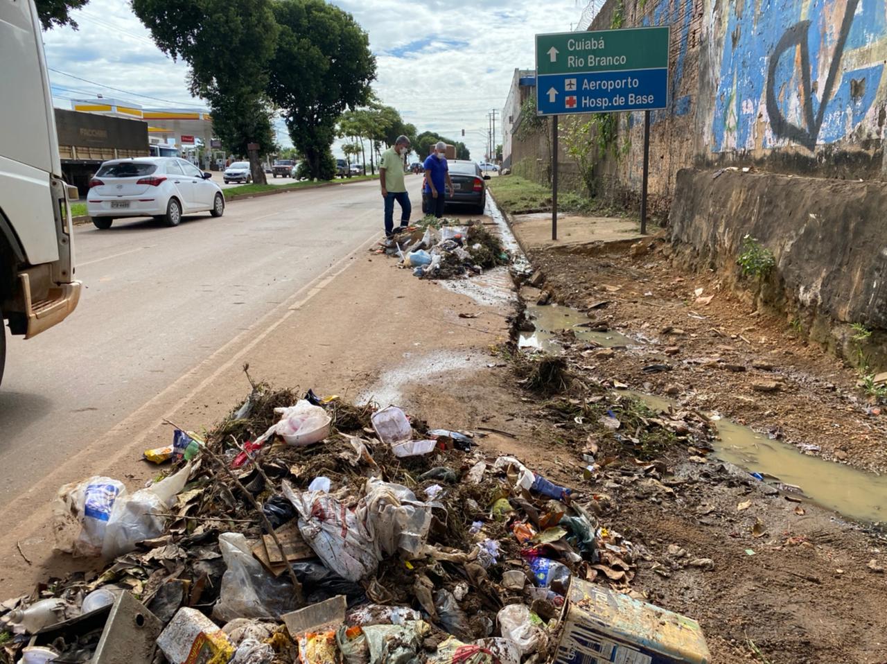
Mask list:
[{"label": "white plastic bag with reddish-brown stains, mid-heap, left of a clear bag", "polygon": [[330,494],[296,493],[287,481],[283,493],[299,512],[302,539],[324,565],[348,581],[360,581],[375,572],[379,560],[373,537],[355,510]]}]

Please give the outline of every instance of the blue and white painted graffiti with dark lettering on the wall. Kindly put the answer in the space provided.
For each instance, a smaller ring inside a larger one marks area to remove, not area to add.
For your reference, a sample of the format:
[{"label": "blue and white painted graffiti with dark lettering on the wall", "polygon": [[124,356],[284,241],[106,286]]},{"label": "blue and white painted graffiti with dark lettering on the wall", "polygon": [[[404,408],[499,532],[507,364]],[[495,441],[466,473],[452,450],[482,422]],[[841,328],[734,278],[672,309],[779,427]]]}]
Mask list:
[{"label": "blue and white painted graffiti with dark lettering on the wall", "polygon": [[813,149],[877,121],[885,0],[725,2],[714,152]]}]

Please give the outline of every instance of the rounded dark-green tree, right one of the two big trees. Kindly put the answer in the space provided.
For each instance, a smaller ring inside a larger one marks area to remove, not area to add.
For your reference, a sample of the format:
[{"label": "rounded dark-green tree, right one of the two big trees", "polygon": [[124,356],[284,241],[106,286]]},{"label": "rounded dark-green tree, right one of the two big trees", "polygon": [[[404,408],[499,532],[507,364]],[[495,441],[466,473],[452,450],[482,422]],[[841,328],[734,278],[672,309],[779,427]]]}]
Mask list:
[{"label": "rounded dark-green tree, right one of the two big trees", "polygon": [[333,4],[278,0],[272,6],[280,35],[269,94],[310,177],[320,178],[339,116],[370,99],[376,60],[365,31]]}]

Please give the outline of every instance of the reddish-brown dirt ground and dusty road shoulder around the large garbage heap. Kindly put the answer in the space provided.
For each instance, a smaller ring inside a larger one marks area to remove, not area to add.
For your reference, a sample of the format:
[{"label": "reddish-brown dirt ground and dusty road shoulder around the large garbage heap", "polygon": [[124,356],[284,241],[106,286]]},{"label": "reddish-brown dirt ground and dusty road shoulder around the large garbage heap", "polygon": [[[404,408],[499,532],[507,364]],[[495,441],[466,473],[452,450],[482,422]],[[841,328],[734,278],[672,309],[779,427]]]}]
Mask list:
[{"label": "reddish-brown dirt ground and dusty road shoulder around the large garbage heap", "polygon": [[[878,442],[883,419],[868,414],[851,371],[794,341],[783,321],[753,316],[741,298],[718,290],[712,275],[682,273],[663,249],[656,243],[640,257],[624,250],[530,257],[557,301],[587,308],[607,300],[592,310],[597,320],[650,341],[647,351],[612,357],[586,357],[588,349],[577,344],[568,352],[565,382],[544,394],[522,382],[527,360],[508,343],[506,318],[519,305],[501,273],[474,290],[464,284],[454,290],[414,279],[397,270],[394,259],[364,249],[337,276],[288,304],[279,320],[262,321],[262,333],[242,348],[184,376],[176,393],[161,395],[84,450],[76,460],[80,475],[144,483],[155,469],[136,460],[145,447],[167,443],[170,430],[161,417],[188,428],[216,422],[246,396],[240,367],[248,361],[251,374],[278,386],[363,395],[396,403],[435,426],[485,434],[479,442],[487,458],[517,455],[531,470],[573,488],[574,501],[590,505],[610,536],[632,542],[633,576],[597,582],[700,621],[715,664],[884,664],[887,541],[876,528],[798,502],[717,462],[705,454],[710,441],[693,435],[696,424],[639,447],[631,432],[616,438],[596,415],[580,415],[608,407],[631,414],[632,407],[619,410],[620,398],[602,387],[614,379],[658,394],[673,383],[679,393],[672,398],[686,404],[691,419],[693,407],[718,409],[762,431],[778,427],[789,442],[815,443],[824,457],[844,451],[847,462],[885,467]],[[695,302],[697,288],[703,297],[714,295],[710,304]],[[665,355],[672,346],[678,352]],[[754,360],[767,360],[773,370],[752,368]],[[653,362],[674,368],[644,373]],[[779,391],[752,389],[774,375],[784,378]],[[638,417],[638,431],[664,431],[652,422],[655,414]],[[115,455],[107,454],[111,440]],[[583,454],[592,444],[596,469],[586,475]],[[59,479],[51,474],[37,485],[29,509],[23,502],[23,517],[7,530],[0,558],[5,596],[72,568],[48,553],[47,505]]]}]

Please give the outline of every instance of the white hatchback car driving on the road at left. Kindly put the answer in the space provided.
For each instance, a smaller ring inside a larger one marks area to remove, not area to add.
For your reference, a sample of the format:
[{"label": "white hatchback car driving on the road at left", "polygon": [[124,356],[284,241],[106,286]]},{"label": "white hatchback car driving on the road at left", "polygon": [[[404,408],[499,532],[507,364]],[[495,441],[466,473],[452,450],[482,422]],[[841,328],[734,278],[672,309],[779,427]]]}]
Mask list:
[{"label": "white hatchback car driving on the road at left", "polygon": [[177,157],[138,157],[105,162],[90,180],[86,209],[97,228],[121,217],[155,217],[176,226],[182,215],[224,213],[222,188],[191,162]]}]

